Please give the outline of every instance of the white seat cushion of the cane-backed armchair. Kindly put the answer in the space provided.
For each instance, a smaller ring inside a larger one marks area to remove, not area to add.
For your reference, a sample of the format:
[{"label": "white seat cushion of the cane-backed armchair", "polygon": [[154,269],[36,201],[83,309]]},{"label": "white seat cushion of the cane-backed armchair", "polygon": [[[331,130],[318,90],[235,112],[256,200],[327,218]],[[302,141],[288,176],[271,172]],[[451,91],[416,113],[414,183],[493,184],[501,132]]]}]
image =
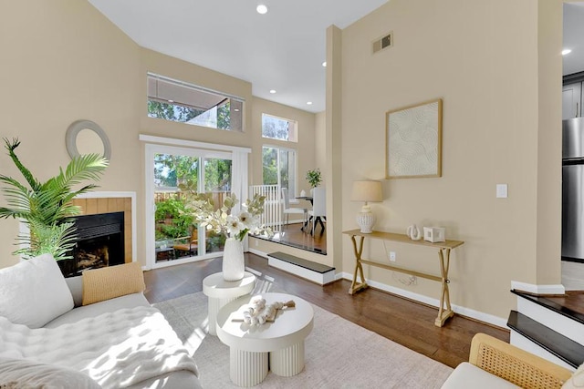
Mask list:
[{"label": "white seat cushion of the cane-backed armchair", "polygon": [[460,363],[450,374],[446,382],[442,385],[442,389],[513,389],[518,388],[514,384],[497,377],[494,374],[485,372],[480,367],[474,364],[464,362]]}]

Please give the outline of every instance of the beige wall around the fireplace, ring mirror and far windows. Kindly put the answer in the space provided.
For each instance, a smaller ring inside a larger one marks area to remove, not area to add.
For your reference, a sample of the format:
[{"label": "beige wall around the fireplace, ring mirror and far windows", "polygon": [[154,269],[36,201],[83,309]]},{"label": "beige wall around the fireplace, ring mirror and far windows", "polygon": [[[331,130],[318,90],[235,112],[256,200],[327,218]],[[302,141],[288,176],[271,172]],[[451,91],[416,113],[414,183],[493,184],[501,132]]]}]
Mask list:
[{"label": "beige wall around the fireplace, ring mirror and far windows", "polygon": [[[16,34],[16,31],[18,34]],[[261,156],[261,112],[300,125],[300,171],[314,165],[314,114],[251,95],[251,84],[141,48],[92,5],[43,0],[0,5],[0,136],[20,138],[16,149],[39,179],[57,174],[68,154],[65,132],[75,120],[93,120],[110,138],[110,168],[99,190],[137,193],[136,258],[144,261],[144,154],[140,134],[241,146]],[[181,79],[245,98],[245,132],[236,133],[147,118],[146,73]],[[258,116],[259,120],[258,121]],[[4,149],[4,148],[3,148]],[[255,161],[255,159],[254,159]],[[261,158],[254,182],[261,182]],[[20,177],[2,152],[0,171]],[[259,176],[257,176],[259,172]],[[300,182],[305,180],[300,177]],[[0,205],[5,205],[0,197]],[[11,255],[16,220],[0,220],[0,268]]]}]

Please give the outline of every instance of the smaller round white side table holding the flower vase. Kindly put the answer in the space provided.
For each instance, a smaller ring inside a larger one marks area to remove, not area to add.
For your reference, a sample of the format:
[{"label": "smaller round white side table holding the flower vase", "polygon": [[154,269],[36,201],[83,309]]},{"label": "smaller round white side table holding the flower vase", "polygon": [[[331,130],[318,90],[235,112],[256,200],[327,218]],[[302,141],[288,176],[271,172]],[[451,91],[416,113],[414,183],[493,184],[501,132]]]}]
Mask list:
[{"label": "smaller round white side table holding the flower vase", "polygon": [[217,322],[217,313],[227,302],[233,302],[235,299],[254,290],[255,275],[245,271],[244,278],[239,281],[225,281],[223,272],[211,274],[203,280],[203,293],[209,297],[209,334],[217,335],[215,323]]}]

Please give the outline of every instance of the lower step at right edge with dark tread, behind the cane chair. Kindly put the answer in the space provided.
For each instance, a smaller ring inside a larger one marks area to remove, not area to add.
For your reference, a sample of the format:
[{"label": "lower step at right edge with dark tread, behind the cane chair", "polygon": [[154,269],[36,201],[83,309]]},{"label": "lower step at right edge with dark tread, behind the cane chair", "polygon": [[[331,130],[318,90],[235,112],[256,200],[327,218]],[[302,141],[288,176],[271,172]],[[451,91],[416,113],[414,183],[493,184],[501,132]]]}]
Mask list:
[{"label": "lower step at right edge with dark tread, behind the cane chair", "polygon": [[[536,322],[525,314],[511,311],[507,320],[507,326],[512,330],[512,344],[526,348],[521,344],[513,342],[513,332],[516,332],[532,343],[537,344],[537,346],[541,347],[547,353],[557,357],[558,360],[567,363],[572,369],[584,362],[584,346],[582,344],[574,342],[561,333],[551,330],[544,324]],[[532,350],[527,351],[533,352]]]}]

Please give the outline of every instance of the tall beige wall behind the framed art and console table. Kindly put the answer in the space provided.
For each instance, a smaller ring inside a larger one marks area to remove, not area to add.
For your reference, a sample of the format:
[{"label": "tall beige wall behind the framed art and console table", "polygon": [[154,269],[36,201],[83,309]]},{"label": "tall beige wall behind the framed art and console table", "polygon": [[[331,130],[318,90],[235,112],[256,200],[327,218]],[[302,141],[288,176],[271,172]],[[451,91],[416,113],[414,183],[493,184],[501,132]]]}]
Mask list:
[{"label": "tall beige wall behind the framed art and console table", "polygon": [[[343,192],[384,178],[386,111],[443,98],[443,177],[383,180],[385,200],[371,208],[378,230],[443,226],[465,241],[452,302],[501,318],[514,306],[511,281],[560,283],[560,15],[559,1],[392,0],[342,35]],[[389,31],[394,46],[372,55],[370,42]],[[497,183],[508,199],[495,199]],[[343,198],[344,230],[359,208]],[[364,256],[387,261],[390,247],[398,266],[439,273],[432,250],[378,241]],[[343,270],[352,266],[345,237]],[[378,268],[366,277],[439,296],[435,282],[406,286]]]}]

